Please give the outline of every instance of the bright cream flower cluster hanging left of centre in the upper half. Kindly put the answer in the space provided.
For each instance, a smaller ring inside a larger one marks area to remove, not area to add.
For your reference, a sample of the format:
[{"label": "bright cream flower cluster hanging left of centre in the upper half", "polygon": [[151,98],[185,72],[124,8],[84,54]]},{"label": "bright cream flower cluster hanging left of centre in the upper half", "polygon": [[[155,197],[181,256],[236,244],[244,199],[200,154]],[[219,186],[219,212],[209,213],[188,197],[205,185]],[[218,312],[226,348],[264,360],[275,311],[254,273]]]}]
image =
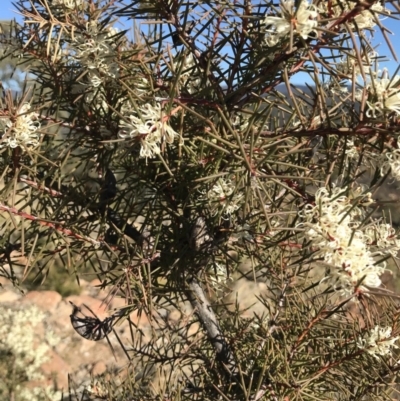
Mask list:
[{"label": "bright cream flower cluster hanging left of centre in the upper half", "polygon": [[173,143],[178,133],[168,124],[162,115],[161,106],[145,104],[139,108],[139,113],[132,112],[120,121],[119,136],[140,140],[140,157],[154,157],[159,154],[162,141]]}]

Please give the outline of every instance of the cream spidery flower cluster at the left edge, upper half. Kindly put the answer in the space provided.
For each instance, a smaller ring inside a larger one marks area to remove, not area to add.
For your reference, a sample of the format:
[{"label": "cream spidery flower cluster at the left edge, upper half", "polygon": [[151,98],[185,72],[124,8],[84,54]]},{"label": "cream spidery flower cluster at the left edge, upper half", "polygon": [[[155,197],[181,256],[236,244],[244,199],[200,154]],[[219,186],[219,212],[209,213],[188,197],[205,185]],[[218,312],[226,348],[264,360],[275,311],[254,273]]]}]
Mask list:
[{"label": "cream spidery flower cluster at the left edge, upper half", "polygon": [[40,135],[37,133],[41,126],[39,114],[29,113],[30,109],[31,105],[24,103],[14,121],[10,118],[0,118],[0,130],[2,131],[0,147],[16,148],[20,146],[25,149],[28,147],[35,148],[39,145]]}]

